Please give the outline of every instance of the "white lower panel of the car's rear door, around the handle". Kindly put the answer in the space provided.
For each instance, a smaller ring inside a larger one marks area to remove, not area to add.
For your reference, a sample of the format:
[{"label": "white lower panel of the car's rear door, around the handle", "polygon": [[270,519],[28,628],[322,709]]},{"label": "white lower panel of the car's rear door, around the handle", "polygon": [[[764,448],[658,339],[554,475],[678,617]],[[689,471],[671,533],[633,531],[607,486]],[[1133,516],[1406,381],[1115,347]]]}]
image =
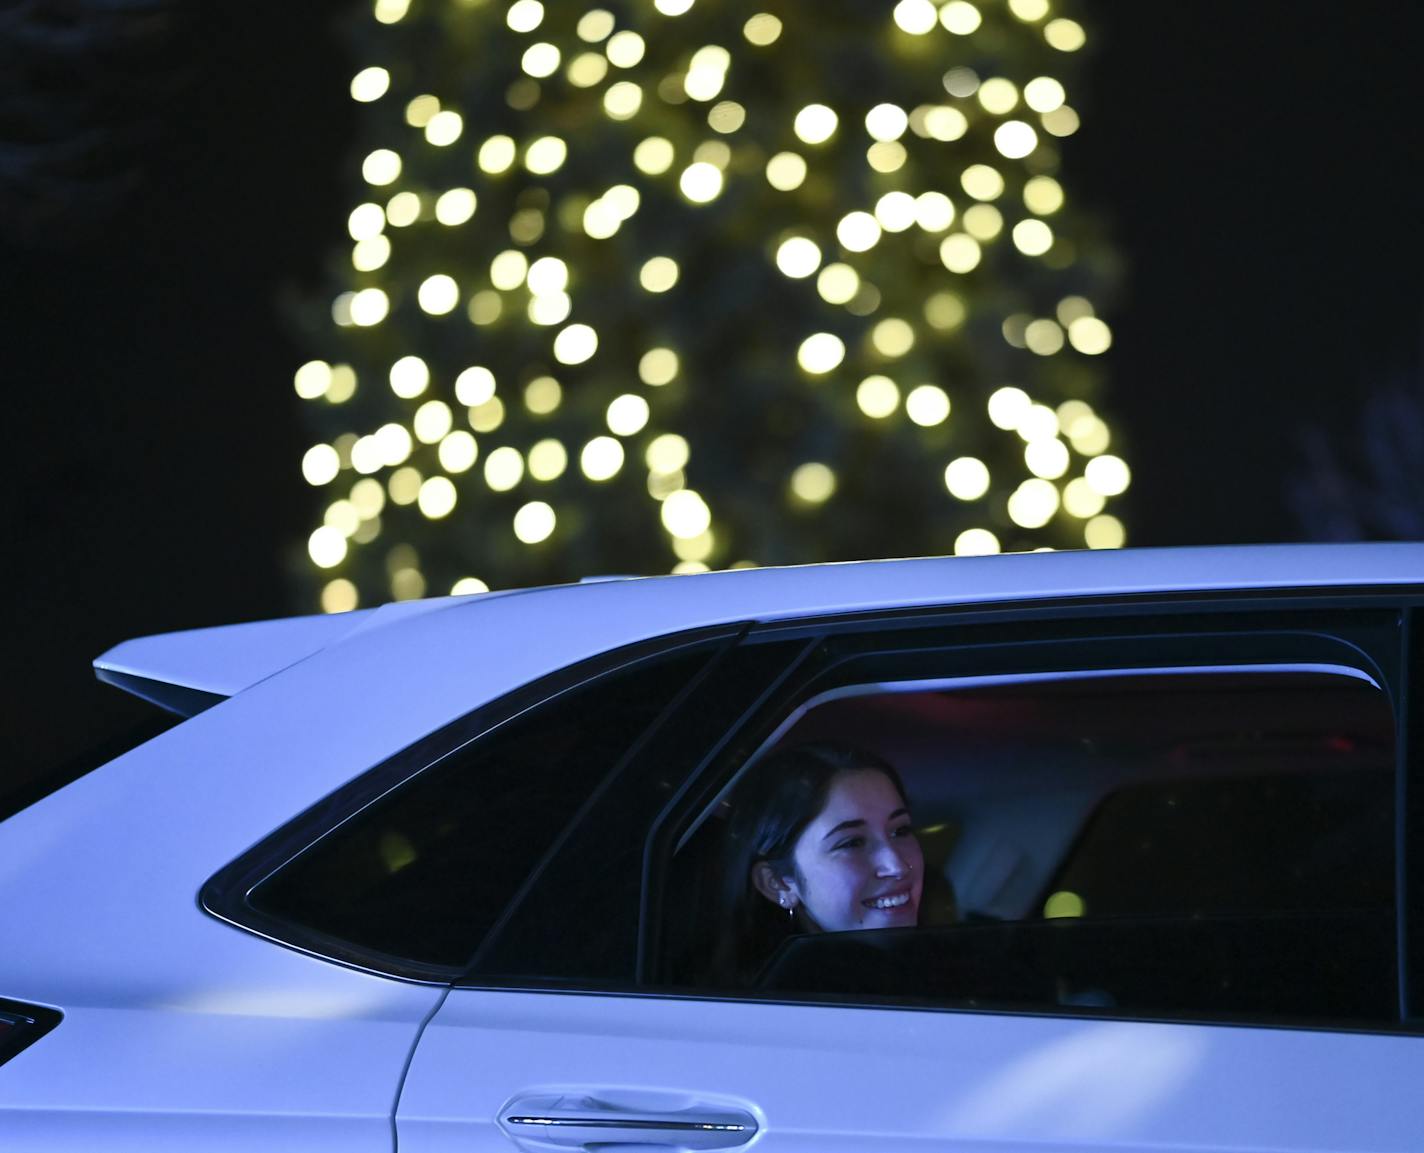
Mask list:
[{"label": "white lower panel of the car's rear door, around the handle", "polygon": [[402,1153],[508,1153],[524,1095],[662,1090],[765,1153],[1417,1153],[1424,1039],[454,989],[402,1093]]}]

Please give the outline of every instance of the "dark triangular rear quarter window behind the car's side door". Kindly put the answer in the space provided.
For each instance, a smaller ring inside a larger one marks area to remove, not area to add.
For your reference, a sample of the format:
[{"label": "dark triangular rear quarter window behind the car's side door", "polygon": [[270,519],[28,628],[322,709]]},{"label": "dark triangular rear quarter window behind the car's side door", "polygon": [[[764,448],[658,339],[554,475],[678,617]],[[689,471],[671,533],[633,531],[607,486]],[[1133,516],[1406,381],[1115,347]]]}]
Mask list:
[{"label": "dark triangular rear quarter window behind the car's side door", "polygon": [[646,660],[507,720],[340,824],[251,905],[387,957],[463,965],[705,660],[705,649]]}]

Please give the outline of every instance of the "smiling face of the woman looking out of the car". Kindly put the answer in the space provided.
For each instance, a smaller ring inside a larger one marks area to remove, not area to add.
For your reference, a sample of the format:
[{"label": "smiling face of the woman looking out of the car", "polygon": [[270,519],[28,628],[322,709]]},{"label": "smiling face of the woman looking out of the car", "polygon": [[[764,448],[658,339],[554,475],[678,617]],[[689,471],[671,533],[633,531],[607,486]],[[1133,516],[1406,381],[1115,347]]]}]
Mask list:
[{"label": "smiling face of the woman looking out of the car", "polygon": [[826,932],[914,925],[924,857],[904,799],[876,769],[839,773],[792,853],[787,897]]}]

